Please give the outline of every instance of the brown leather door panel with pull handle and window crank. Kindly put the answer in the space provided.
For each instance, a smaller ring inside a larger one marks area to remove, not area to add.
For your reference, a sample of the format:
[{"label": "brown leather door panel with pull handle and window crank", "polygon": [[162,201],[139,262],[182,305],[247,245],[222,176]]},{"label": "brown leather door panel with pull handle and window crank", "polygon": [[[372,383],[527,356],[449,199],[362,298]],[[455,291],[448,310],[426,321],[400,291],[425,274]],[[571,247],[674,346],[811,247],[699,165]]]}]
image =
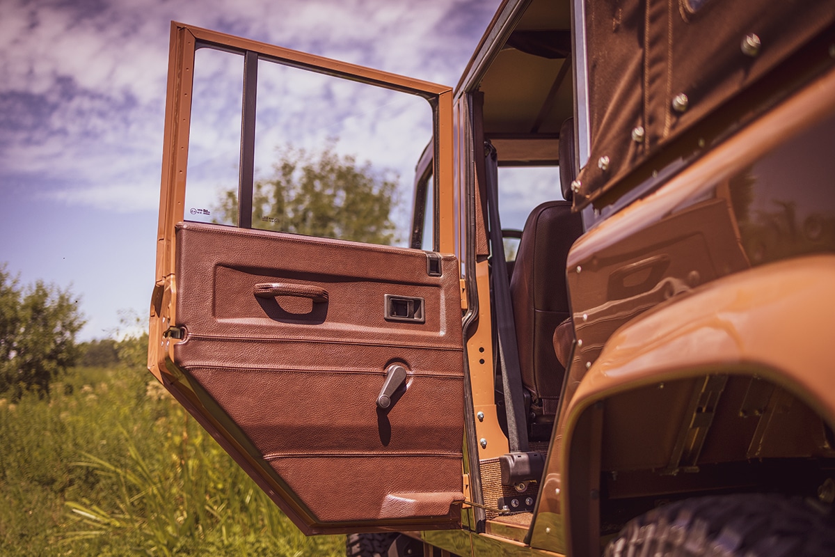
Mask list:
[{"label": "brown leather door panel with pull handle and window crank", "polygon": [[[176,254],[173,363],[303,531],[458,524],[453,256],[429,276],[423,251],[196,223],[177,225]],[[423,322],[387,319],[386,295],[423,299]],[[407,378],[383,411],[392,363]]]}]

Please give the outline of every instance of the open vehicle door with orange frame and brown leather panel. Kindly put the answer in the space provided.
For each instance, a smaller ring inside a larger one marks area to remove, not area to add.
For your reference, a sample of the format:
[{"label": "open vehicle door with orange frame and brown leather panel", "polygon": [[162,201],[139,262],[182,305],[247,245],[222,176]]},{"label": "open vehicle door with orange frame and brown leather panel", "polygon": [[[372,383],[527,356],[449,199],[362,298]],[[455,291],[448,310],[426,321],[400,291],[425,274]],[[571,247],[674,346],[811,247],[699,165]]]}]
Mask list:
[{"label": "open vehicle door with orange frame and brown leather panel", "polygon": [[[200,48],[243,75],[234,223],[186,220],[210,214],[186,193]],[[464,383],[451,215],[436,251],[254,227],[264,63],[428,100],[436,200],[453,195],[450,89],[172,23],[149,369],[305,534],[453,528]]]}]

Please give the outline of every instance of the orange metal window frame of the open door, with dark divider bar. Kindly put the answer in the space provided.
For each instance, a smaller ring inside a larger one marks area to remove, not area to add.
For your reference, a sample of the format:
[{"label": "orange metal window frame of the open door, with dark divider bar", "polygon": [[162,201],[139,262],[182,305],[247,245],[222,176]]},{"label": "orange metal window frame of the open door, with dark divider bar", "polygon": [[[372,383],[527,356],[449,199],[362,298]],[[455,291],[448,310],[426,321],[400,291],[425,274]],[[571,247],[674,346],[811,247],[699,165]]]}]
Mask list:
[{"label": "orange metal window frame of the open door, with dark divider bar", "polygon": [[[335,78],[413,94],[427,99],[433,109],[433,180],[435,192],[434,239],[436,251],[454,253],[453,210],[453,89],[396,73],[365,68],[290,48],[235,37],[210,29],[171,22],[168,68],[168,89],[165,103],[165,126],[162,180],[159,193],[159,225],[154,294],[150,311],[149,369],[157,378],[170,373],[166,356],[177,342],[170,327],[175,325],[175,226],[185,220],[186,170],[188,168],[191,104],[194,87],[195,52],[198,48],[240,54],[244,58],[244,94],[241,100],[241,153],[239,178],[239,210],[251,206],[254,165],[255,94],[257,62],[266,59],[292,68],[306,69]],[[250,218],[239,227],[251,227]],[[249,226],[246,224],[249,223]]]}]

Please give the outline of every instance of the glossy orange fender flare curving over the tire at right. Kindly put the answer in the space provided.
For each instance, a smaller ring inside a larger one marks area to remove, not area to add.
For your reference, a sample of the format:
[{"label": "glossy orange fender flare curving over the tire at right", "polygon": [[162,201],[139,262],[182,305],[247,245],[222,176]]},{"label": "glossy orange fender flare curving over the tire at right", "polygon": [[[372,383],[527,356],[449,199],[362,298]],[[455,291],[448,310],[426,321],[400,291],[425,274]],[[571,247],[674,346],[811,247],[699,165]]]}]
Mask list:
[{"label": "glossy orange fender flare curving over the tire at right", "polygon": [[621,389],[746,366],[835,424],[833,284],[835,256],[808,256],[727,276],[650,311],[610,339],[569,416]]}]

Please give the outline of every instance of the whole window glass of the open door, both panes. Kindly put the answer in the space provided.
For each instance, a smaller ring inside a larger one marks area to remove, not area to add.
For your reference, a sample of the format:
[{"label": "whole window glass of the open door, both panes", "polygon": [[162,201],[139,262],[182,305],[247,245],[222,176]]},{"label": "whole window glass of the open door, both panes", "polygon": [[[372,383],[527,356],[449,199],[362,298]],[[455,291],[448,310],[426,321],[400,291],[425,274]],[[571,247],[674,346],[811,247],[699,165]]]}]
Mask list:
[{"label": "whole window glass of the open door, both panes", "polygon": [[[236,225],[244,57],[197,54],[186,218]],[[252,228],[408,246],[426,99],[263,57],[256,73]]]}]

